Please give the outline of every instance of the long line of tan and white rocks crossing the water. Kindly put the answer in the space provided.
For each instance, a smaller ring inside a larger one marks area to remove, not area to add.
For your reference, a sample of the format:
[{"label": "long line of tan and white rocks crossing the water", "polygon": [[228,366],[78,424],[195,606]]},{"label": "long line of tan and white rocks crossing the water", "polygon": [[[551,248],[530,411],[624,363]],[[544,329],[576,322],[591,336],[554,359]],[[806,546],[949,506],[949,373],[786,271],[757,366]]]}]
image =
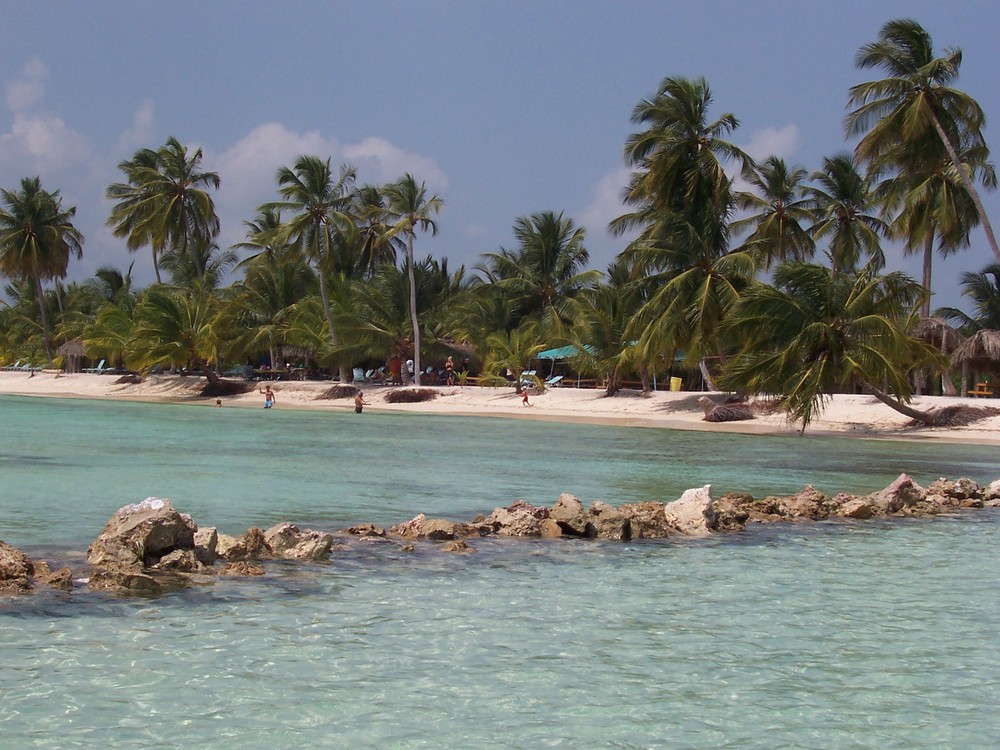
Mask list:
[{"label": "long line of tan and white rocks crossing the water", "polygon": [[[615,507],[595,501],[585,507],[564,493],[551,508],[516,500],[470,522],[419,514],[388,531],[371,523],[340,532],[299,529],[281,523],[263,531],[251,527],[238,537],[214,527],[199,528],[169,500],[147,498],[120,508],[87,550],[89,587],[113,593],[157,595],[214,577],[265,575],[274,559],[323,561],[351,545],[388,546],[416,552],[420,545],[459,555],[476,551],[483,537],[604,539],[618,542],[694,538],[736,532],[748,524],[810,523],[826,519],[933,516],[964,509],[1000,507],[1000,479],[980,487],[970,479],[938,479],[924,488],[901,474],[868,495],[834,497],[806,486],[792,495],[754,498],[727,493],[715,499],[710,485],[684,492],[671,502],[649,500]],[[69,568],[50,571],[21,550],[0,542],[0,594],[31,593],[38,586],[69,589]]]}]

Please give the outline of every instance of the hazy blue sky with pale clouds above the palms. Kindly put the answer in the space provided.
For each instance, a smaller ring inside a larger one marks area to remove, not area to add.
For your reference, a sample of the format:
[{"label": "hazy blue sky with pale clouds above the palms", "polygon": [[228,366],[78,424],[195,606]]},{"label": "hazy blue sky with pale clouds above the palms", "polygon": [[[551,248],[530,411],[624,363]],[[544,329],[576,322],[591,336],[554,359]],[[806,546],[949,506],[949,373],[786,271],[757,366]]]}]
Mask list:
[{"label": "hazy blue sky with pale clouds above the palms", "polygon": [[[117,164],[168,136],[219,172],[221,242],[274,198],[303,153],[350,161],[362,181],[411,172],[445,207],[417,254],[475,265],[511,246],[515,218],[564,211],[592,265],[623,241],[621,151],[629,114],[665,76],[704,76],[715,115],[751,155],[816,169],[851,147],[848,88],[873,75],[854,54],[892,18],[958,46],[959,87],[1000,117],[995,2],[47,2],[0,0],[0,186],[40,175],[77,206],[86,236],[71,276],[133,258],[104,227]],[[992,119],[990,120],[992,122]],[[996,144],[997,130],[987,130]],[[1000,148],[1000,146],[997,146]],[[987,210],[1000,224],[1000,196]],[[148,252],[134,275],[152,280]],[[936,259],[934,304],[992,256]],[[919,275],[916,259],[890,264]]]}]

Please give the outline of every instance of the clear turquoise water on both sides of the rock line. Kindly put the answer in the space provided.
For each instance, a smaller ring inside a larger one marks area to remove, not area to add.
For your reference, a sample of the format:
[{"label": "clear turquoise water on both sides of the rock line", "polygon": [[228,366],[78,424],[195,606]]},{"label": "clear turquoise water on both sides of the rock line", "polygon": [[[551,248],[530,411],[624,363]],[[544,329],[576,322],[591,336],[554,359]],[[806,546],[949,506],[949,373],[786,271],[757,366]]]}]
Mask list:
[{"label": "clear turquoise water on both sides of the rock line", "polygon": [[[0,539],[170,497],[238,533],[551,503],[985,482],[996,449],[0,399]],[[0,746],[989,747],[1000,513],[707,541],[362,547],[154,600],[0,600]]]}]

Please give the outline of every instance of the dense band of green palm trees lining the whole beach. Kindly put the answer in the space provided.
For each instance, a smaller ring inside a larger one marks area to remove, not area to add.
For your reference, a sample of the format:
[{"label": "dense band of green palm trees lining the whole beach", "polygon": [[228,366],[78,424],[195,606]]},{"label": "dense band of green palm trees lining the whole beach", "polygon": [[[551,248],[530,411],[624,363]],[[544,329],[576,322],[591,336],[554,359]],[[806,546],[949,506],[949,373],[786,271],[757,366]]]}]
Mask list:
[{"label": "dense band of green palm trees lining the whole beach", "polygon": [[[978,103],[955,88],[960,50],[934,51],[917,22],[885,24],[858,52],[879,78],[852,87],[853,151],[812,169],[736,145],[739,120],[703,78],[664,78],[631,113],[621,251],[589,267],[587,234],[564,212],[512,222],[514,244],[470,270],[422,259],[444,200],[412,174],[359,184],[351,164],[302,154],[274,198],[220,247],[219,174],[174,137],[118,167],[107,225],[148,249],[155,283],[133,269],[65,282],[83,253],[75,208],[26,177],[0,192],[0,359],[41,365],[60,344],[139,372],[234,366],[325,371],[413,360],[414,382],[451,355],[481,383],[539,383],[544,349],[609,396],[686,371],[781,403],[803,427],[836,392],[865,390],[908,413],[916,373],[947,363],[918,334],[930,315],[932,258],[981,230],[1000,262],[979,191],[996,186]],[[885,272],[889,243],[921,253],[920,282]],[[1000,327],[1000,265],[967,273],[966,330]],[[429,367],[425,364],[430,363]],[[699,374],[700,373],[700,374]],[[403,369],[405,379],[405,368]],[[921,418],[917,413],[916,418]]]}]

